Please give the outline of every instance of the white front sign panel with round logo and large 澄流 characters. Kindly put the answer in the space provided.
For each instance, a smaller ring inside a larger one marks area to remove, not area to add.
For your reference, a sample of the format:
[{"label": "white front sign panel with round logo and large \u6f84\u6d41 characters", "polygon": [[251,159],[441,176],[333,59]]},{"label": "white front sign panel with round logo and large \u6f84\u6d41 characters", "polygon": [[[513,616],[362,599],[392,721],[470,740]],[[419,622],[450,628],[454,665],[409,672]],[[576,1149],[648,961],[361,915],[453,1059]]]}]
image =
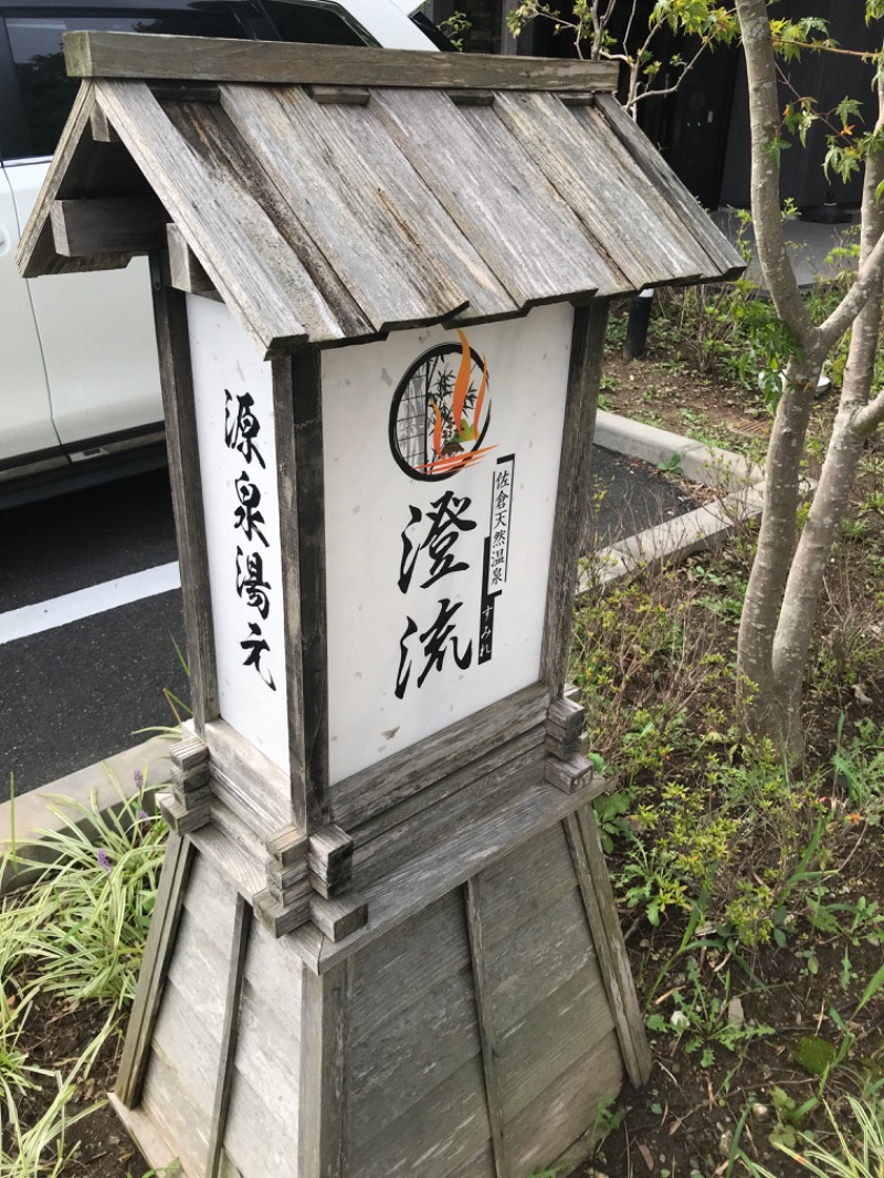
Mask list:
[{"label": "white front sign panel with round logo and large \u6f84\u6d41 characters", "polygon": [[323,352],[332,782],[539,681],[573,316]]}]

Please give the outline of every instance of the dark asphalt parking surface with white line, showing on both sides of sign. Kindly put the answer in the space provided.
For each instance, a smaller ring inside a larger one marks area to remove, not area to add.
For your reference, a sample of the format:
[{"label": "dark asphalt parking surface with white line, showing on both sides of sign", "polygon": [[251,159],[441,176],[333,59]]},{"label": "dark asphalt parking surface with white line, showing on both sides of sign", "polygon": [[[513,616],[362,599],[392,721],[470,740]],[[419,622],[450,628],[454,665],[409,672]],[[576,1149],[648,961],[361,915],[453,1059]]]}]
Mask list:
[{"label": "dark asphalt parking surface with white line, showing on both sides of sign", "polygon": [[[645,463],[596,448],[602,545],[695,504]],[[0,511],[0,801],[174,723],[189,701],[165,471]]]}]

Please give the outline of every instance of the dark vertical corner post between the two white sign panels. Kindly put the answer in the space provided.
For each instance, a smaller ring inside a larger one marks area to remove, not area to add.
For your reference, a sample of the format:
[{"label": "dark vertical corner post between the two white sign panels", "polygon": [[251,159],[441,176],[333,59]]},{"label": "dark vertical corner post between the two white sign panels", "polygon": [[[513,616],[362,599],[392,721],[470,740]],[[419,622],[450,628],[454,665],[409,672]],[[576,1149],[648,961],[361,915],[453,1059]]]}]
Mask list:
[{"label": "dark vertical corner post between the two white sign panels", "polygon": [[273,362],[290,801],[306,835],[329,821],[322,371],[311,350]]}]

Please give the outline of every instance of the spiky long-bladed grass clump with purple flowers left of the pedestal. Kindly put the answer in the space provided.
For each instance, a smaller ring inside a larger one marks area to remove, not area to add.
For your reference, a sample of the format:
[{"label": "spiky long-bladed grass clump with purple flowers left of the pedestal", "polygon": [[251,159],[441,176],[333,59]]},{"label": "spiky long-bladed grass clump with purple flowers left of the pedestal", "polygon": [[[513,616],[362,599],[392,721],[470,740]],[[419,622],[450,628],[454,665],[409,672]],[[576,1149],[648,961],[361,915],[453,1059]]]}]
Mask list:
[{"label": "spiky long-bladed grass clump with purple flowers left of the pedestal", "polygon": [[[42,830],[47,865],[13,843],[4,876],[35,882],[8,894],[0,908],[0,1178],[57,1178],[75,1153],[71,1131],[104,1101],[83,1106],[84,1081],[99,1054],[119,1039],[134,997],[153,907],[165,827],[140,792],[101,812],[57,799],[60,830]],[[38,1066],[22,1046],[27,1020],[45,995],[70,1007],[85,1001],[104,1024],[66,1071]],[[24,1110],[24,1111],[22,1111]],[[74,1134],[75,1137],[75,1134]]]}]

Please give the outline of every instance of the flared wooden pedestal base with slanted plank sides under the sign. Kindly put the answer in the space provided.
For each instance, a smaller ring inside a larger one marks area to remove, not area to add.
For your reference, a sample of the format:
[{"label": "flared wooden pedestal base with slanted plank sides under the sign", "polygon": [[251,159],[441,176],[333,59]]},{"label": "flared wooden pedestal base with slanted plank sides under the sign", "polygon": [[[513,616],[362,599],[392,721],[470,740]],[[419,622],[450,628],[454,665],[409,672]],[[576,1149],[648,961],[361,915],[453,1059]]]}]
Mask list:
[{"label": "flared wooden pedestal base with slanted plank sides under the sign", "polygon": [[[588,802],[539,785],[365,889],[336,942],[172,836],[114,1105],[186,1178],[525,1178],[648,1055]],[[231,860],[232,861],[232,860]]]}]

